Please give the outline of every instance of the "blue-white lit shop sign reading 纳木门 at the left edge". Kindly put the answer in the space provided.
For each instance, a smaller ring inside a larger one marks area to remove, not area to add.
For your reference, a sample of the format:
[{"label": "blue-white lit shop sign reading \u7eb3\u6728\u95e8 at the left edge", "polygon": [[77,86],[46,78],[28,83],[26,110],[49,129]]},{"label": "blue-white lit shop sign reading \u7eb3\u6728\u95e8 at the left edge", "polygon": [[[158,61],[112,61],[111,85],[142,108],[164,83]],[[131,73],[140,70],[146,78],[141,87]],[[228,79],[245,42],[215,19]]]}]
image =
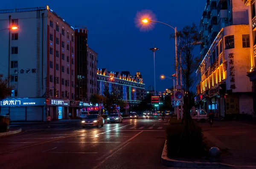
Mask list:
[{"label": "blue-white lit shop sign reading \u7eb3\u6728\u95e8 at the left edge", "polygon": [[15,107],[15,106],[44,106],[45,98],[33,99],[4,99],[0,101],[2,107]]}]

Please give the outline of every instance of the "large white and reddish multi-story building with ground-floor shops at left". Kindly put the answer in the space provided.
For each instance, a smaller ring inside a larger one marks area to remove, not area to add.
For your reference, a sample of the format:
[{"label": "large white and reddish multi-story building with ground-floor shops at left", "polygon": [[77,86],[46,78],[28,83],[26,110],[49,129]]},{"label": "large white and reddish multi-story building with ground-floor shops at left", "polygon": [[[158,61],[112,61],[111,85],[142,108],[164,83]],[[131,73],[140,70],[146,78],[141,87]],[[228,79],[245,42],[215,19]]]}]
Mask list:
[{"label": "large white and reddish multi-story building with ground-floor shops at left", "polygon": [[[75,30],[49,6],[0,11],[0,73],[11,76],[12,97],[1,114],[12,121],[42,121],[74,113]],[[10,45],[9,45],[10,44]],[[8,50],[9,49],[9,50]],[[9,54],[10,52],[10,54]]]}]

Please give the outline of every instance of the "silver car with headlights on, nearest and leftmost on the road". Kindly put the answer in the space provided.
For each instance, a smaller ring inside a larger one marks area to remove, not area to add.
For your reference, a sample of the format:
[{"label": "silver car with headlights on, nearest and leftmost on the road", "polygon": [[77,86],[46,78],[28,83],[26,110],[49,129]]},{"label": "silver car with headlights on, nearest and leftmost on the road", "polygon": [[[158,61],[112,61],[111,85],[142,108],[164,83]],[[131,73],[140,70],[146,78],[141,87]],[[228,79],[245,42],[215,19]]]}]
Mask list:
[{"label": "silver car with headlights on, nearest and leftmost on the road", "polygon": [[85,126],[96,126],[99,127],[100,125],[103,127],[104,125],[104,118],[98,114],[91,114],[87,115],[84,119],[81,120],[82,127]]}]

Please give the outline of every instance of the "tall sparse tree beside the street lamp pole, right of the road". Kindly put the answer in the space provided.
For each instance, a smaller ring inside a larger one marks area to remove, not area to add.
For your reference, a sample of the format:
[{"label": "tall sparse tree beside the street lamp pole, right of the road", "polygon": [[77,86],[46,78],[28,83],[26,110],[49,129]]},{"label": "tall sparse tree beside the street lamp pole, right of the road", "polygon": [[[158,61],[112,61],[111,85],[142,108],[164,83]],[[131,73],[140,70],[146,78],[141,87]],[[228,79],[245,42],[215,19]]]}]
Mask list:
[{"label": "tall sparse tree beside the street lamp pole, right of the road", "polygon": [[[193,54],[196,45],[201,43],[201,36],[195,23],[193,23],[192,26],[185,26],[182,31],[178,31],[176,35],[177,39],[179,40],[179,44],[177,47],[177,53],[179,54],[177,56],[177,66],[181,69],[181,75],[184,85],[183,89],[186,93],[184,96],[184,118],[186,120],[186,130],[188,129],[189,121],[194,124],[190,115],[191,103],[189,100],[191,89],[198,81],[195,71],[198,69],[202,60],[202,56],[195,56]],[[173,38],[174,36],[175,35],[172,34],[171,38]]]}]

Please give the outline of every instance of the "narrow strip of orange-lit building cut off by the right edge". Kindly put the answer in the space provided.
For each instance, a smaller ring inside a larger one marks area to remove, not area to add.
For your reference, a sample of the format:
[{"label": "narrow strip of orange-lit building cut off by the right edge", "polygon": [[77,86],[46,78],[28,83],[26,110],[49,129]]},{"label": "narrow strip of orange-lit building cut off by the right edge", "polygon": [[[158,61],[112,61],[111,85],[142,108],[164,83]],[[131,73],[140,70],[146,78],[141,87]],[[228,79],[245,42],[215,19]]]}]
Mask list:
[{"label": "narrow strip of orange-lit building cut off by the right edge", "polygon": [[247,76],[252,82],[253,90],[253,111],[256,112],[256,8],[255,0],[241,0],[244,6],[247,6],[249,17],[250,33],[250,69],[247,70]]}]

